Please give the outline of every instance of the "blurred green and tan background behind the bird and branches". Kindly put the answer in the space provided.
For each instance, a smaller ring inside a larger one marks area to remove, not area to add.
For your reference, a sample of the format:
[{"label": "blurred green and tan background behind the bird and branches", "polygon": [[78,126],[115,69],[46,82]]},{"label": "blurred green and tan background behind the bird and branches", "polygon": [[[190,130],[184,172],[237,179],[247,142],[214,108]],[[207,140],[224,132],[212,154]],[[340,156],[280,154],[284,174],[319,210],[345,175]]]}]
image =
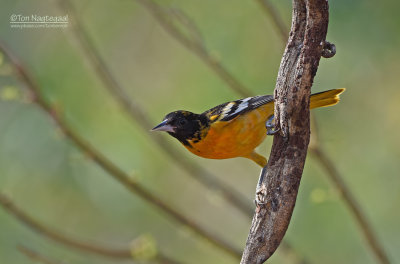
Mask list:
[{"label": "blurred green and tan background behind the bird and branches", "polygon": [[[271,2],[289,25],[291,2]],[[252,93],[273,92],[283,45],[257,1],[159,3],[192,18],[207,49]],[[131,121],[85,60],[70,25],[17,29],[9,23],[12,14],[67,12],[49,0],[0,4],[0,39],[23,60],[74,130],[164,201],[243,248],[250,220],[188,177]],[[154,125],[173,110],[202,112],[240,98],[136,1],[73,4],[115,78]],[[347,88],[339,105],[314,111],[319,139],[393,263],[400,263],[398,10],[400,2],[395,0],[330,1],[327,39],[336,44],[337,55],[321,60],[313,86],[313,92]],[[42,223],[76,238],[123,247],[147,235],[165,254],[184,263],[237,262],[132,196],[95,165],[29,102],[5,56],[0,63],[1,192]],[[271,141],[267,139],[260,152],[267,154]],[[257,165],[245,159],[206,160],[179,149],[253,202]],[[309,263],[376,263],[340,195],[312,157],[285,240]],[[0,263],[31,263],[16,250],[17,244],[67,263],[117,263],[43,238],[0,208]],[[297,262],[278,250],[270,263]]]}]

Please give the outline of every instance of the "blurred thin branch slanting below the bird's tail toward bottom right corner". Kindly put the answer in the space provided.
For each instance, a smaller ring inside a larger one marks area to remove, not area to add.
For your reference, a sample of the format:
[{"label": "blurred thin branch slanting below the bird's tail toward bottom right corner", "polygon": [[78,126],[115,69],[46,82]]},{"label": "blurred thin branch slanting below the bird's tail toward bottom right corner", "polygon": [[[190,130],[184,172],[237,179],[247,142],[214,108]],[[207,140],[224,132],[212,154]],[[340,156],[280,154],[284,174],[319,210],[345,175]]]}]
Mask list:
[{"label": "blurred thin branch slanting below the bird's tail toward bottom right corner", "polygon": [[324,167],[327,175],[329,176],[329,179],[339,190],[341,196],[349,207],[350,212],[356,219],[356,222],[358,223],[361,232],[364,234],[369,247],[371,248],[375,257],[378,259],[379,263],[389,264],[389,257],[385,253],[383,246],[380,244],[374,229],[368,222],[368,219],[364,214],[360,204],[357,202],[349,187],[344,182],[343,177],[338,172],[336,166],[333,164],[333,162],[329,159],[325,151],[320,146],[310,148],[310,152],[311,154],[313,154],[313,157],[318,160],[319,163]]}]

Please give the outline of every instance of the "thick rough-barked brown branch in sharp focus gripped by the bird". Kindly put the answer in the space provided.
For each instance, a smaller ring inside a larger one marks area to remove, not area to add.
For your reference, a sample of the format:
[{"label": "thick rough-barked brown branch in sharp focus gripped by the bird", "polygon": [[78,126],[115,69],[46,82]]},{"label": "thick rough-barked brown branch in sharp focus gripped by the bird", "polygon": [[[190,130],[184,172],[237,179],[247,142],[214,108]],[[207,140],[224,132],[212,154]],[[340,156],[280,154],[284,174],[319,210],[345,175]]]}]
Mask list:
[{"label": "thick rough-barked brown branch in sharp focus gripped by the bird", "polygon": [[292,29],[275,87],[270,159],[241,263],[263,263],[279,246],[296,203],[310,140],[309,99],[328,28],[326,0],[293,0]]}]

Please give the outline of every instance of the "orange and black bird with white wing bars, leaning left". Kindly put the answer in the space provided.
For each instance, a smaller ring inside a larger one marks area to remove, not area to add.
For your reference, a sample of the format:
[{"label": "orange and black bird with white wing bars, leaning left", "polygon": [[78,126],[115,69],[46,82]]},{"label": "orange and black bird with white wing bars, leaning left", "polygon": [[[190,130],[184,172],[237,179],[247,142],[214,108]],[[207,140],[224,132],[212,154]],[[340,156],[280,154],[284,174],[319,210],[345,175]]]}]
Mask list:
[{"label": "orange and black bird with white wing bars, leaning left", "polygon": [[[311,95],[310,108],[335,105],[342,89]],[[208,159],[244,157],[264,167],[267,159],[255,152],[267,134],[274,134],[274,97],[248,97],[218,105],[202,114],[175,111],[152,131],[166,131],[190,152]]]}]

